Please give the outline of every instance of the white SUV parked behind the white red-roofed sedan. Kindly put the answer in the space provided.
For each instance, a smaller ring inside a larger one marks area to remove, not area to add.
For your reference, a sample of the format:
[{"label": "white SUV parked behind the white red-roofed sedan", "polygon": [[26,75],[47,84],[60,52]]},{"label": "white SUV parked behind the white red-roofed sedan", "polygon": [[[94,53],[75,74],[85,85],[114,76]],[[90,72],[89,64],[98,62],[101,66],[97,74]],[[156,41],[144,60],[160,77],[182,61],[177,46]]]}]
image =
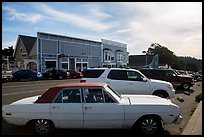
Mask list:
[{"label": "white SUV parked behind the white red-roofed sedan", "polygon": [[88,68],[80,82],[105,82],[121,94],[157,95],[172,98],[171,83],[148,79],[140,71],[127,68]]}]

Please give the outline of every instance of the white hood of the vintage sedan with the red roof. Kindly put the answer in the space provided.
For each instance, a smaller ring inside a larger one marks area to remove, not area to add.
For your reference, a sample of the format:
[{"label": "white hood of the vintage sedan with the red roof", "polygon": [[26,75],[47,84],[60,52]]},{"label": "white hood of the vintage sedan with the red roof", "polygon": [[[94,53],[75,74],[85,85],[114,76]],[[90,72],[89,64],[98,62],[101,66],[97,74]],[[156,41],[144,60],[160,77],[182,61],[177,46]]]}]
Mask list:
[{"label": "white hood of the vintage sedan with the red roof", "polygon": [[171,100],[154,95],[122,95],[122,97],[129,98],[132,105],[172,105]]}]

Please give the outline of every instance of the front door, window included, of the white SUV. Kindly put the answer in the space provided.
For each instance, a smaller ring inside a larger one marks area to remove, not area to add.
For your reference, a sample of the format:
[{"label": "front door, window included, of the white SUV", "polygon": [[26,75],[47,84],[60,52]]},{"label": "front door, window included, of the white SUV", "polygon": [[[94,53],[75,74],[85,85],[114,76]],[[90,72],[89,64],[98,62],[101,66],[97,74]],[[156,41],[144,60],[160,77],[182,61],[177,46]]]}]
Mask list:
[{"label": "front door, window included, of the white SUV", "polygon": [[149,82],[143,80],[144,76],[139,72],[128,70],[127,73],[127,83],[128,83],[128,94],[150,94]]}]

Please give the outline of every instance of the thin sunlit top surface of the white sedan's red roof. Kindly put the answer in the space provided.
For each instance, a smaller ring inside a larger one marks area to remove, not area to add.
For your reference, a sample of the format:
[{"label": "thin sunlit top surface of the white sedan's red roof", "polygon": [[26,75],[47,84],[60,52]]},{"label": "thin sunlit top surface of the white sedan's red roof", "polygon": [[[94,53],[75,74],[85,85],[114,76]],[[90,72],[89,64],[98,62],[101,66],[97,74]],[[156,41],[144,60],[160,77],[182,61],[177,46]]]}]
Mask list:
[{"label": "thin sunlit top surface of the white sedan's red roof", "polygon": [[66,83],[66,84],[60,84],[56,85],[55,87],[60,88],[68,88],[68,87],[103,87],[106,83],[102,82],[86,82],[86,83]]}]

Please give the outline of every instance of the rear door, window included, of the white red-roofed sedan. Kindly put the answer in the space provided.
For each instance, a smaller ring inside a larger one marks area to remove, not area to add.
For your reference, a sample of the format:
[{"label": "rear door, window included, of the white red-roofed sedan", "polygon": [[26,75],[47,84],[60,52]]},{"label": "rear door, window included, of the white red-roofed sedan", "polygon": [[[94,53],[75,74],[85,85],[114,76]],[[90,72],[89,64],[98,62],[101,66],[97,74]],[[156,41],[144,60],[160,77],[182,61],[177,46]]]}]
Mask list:
[{"label": "rear door, window included, of the white red-roofed sedan", "polygon": [[81,88],[63,89],[50,105],[50,113],[58,128],[80,128],[83,126]]}]

